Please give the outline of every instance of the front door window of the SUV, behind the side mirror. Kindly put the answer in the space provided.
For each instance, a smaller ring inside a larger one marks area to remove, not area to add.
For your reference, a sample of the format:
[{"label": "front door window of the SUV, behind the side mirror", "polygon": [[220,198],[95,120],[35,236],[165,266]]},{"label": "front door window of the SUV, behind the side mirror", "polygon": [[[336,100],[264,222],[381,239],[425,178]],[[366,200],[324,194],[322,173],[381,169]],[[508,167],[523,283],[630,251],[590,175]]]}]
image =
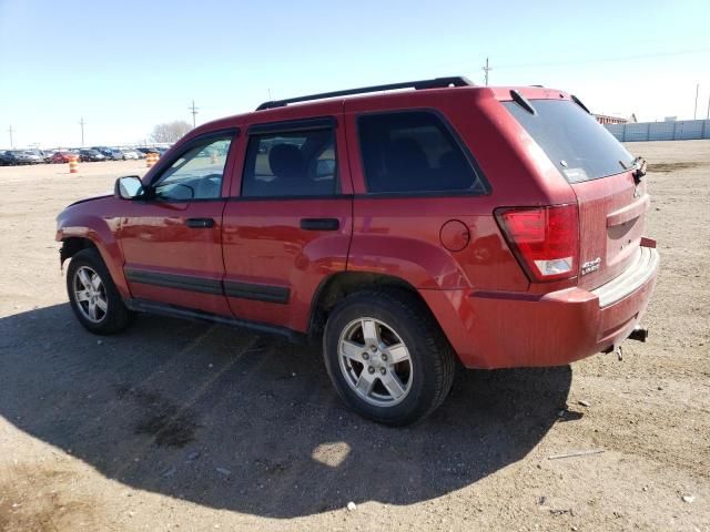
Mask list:
[{"label": "front door window of the SUV, behind the side mirror", "polygon": [[231,143],[232,135],[225,134],[192,146],[155,181],[155,197],[168,202],[219,198]]}]

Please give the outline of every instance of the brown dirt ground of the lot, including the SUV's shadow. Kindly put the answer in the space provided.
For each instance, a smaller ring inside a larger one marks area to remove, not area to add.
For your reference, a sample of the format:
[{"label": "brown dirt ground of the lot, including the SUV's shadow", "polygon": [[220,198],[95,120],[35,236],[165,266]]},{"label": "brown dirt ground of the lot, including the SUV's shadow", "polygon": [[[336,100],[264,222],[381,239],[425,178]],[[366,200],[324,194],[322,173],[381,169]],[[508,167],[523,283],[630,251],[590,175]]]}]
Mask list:
[{"label": "brown dirt ground of the lot, including the SUV's shadow", "polygon": [[[144,163],[0,167],[0,530],[710,530],[710,142],[629,149],[662,259],[648,344],[463,372],[408,429],[349,412],[281,340],[149,316],[88,334],[54,216]],[[549,460],[579,450],[604,452]]]}]

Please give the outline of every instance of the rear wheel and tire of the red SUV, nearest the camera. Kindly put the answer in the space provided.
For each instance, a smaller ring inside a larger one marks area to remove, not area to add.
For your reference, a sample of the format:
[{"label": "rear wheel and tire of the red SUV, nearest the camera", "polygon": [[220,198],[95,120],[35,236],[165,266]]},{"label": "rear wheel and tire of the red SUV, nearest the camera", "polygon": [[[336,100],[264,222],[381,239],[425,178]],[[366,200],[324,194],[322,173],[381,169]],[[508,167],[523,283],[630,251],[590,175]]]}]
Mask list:
[{"label": "rear wheel and tire of the red SUV, nearest the camera", "polygon": [[361,291],[331,313],[324,359],[343,400],[361,416],[405,426],[448,395],[455,355],[428,308],[405,290]]}]

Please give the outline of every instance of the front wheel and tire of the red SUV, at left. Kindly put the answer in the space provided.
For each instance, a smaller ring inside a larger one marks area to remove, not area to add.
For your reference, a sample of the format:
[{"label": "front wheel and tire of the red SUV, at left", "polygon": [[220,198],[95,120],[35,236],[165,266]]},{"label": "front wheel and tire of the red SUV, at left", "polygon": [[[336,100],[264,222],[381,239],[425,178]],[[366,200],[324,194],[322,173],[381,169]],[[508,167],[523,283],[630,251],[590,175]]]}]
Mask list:
[{"label": "front wheel and tire of the red SUV, at left", "polygon": [[131,311],[123,304],[95,248],[77,253],[67,268],[67,291],[74,315],[88,330],[112,335],[126,327]]}]

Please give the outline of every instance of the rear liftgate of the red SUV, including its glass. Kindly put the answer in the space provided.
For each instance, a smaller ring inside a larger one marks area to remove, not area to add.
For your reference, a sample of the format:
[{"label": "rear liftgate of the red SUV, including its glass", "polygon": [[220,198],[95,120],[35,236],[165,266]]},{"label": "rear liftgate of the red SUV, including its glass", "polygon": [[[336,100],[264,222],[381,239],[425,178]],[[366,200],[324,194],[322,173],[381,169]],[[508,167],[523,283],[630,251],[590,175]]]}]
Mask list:
[{"label": "rear liftgate of the red SUV, including its glass", "polygon": [[579,204],[579,286],[596,288],[640,252],[649,196],[633,157],[571,100],[531,100],[535,114],[504,102],[570,184]]}]

